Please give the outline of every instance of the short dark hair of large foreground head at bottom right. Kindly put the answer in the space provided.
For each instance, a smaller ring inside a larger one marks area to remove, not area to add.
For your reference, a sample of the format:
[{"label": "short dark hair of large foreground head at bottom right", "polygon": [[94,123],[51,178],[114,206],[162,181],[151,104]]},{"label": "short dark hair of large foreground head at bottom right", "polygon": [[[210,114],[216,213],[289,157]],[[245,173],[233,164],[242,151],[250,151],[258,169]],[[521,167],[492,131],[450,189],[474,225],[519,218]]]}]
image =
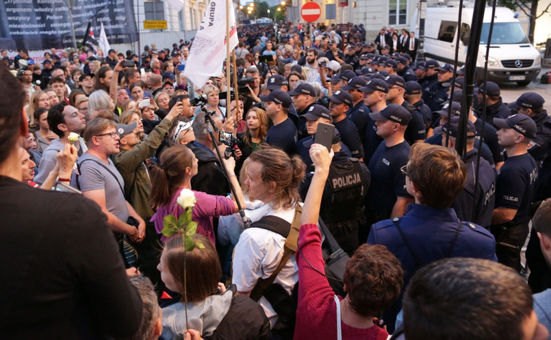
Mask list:
[{"label": "short dark hair of large foreground head at bottom right", "polygon": [[456,257],[415,272],[403,311],[407,340],[517,340],[533,311],[533,298],[510,267]]}]

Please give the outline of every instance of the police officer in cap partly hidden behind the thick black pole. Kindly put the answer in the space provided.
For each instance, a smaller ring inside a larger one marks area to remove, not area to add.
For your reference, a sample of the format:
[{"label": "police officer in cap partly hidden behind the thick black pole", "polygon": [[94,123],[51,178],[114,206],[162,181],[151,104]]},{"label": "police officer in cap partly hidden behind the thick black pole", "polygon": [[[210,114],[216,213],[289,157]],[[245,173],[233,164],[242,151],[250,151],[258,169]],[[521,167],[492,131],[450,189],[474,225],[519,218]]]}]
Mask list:
[{"label": "police officer in cap partly hidden behind the thick black pole", "polygon": [[[435,133],[448,133],[448,148],[455,149],[459,135],[459,117],[450,120],[450,125],[442,125],[435,129]],[[462,221],[472,221],[489,229],[491,215],[496,201],[496,170],[487,160],[480,158],[478,169],[476,159],[478,151],[474,148],[476,127],[473,122],[467,121],[467,153],[463,161],[467,166],[467,181],[463,190],[455,198],[452,207],[457,217]],[[446,139],[442,139],[442,146],[446,146]],[[476,184],[478,176],[478,185]]]}]

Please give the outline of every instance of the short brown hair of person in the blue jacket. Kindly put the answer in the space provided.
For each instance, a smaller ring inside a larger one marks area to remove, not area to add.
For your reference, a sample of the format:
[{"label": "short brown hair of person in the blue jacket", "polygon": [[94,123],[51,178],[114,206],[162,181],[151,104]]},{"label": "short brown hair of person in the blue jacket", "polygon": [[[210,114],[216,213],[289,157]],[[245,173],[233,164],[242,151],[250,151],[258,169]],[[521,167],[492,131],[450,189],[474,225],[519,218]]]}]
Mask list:
[{"label": "short brown hair of person in the blue jacket", "polygon": [[422,204],[448,208],[465,185],[467,167],[451,148],[417,143],[409,151],[407,175]]}]

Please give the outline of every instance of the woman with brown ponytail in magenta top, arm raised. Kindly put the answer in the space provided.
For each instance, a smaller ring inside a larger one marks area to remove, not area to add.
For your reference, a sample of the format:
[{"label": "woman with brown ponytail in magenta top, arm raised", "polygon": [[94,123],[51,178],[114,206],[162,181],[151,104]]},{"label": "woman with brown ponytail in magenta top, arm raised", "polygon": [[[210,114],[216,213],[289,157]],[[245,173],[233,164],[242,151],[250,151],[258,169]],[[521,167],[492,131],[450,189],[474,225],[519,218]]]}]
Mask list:
[{"label": "woman with brown ponytail in magenta top, arm raised", "polygon": [[[240,202],[244,202],[243,194],[237,176],[234,174],[235,160],[233,157],[222,159],[230,176],[231,184],[235,187],[235,194]],[[167,148],[159,157],[159,164],[149,164],[151,174],[151,205],[157,212],[151,218],[155,223],[157,233],[163,229],[163,220],[166,215],[175,215],[176,218],[184,212],[177,200],[185,201],[180,197],[183,189],[191,189],[191,179],[197,174],[197,162],[194,153],[183,145]],[[185,170],[181,170],[185,169]],[[205,192],[193,191],[196,204],[192,213],[192,220],[197,222],[197,233],[205,235],[212,244],[214,240],[214,226],[212,218],[231,215],[239,211],[235,198],[214,196]],[[184,195],[185,196],[185,195]],[[192,199],[192,198],[190,198]],[[166,237],[161,237],[162,241]]]}]

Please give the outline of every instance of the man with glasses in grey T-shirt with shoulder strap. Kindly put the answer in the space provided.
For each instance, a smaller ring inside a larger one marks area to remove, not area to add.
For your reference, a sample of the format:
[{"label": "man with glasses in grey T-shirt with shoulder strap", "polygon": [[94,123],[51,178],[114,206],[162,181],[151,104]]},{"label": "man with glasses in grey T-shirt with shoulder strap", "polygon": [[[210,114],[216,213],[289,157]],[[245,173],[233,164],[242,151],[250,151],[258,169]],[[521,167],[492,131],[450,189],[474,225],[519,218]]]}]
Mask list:
[{"label": "man with glasses in grey T-shirt with shoulder strap", "polygon": [[[80,174],[73,184],[79,187],[84,197],[99,205],[116,239],[127,235],[131,242],[140,243],[145,237],[145,222],[125,200],[123,177],[109,158],[120,151],[120,135],[134,129],[136,122],[117,125],[104,118],[90,121],[83,133],[88,151],[79,158]],[[137,228],[127,223],[129,217],[137,221]]]}]

